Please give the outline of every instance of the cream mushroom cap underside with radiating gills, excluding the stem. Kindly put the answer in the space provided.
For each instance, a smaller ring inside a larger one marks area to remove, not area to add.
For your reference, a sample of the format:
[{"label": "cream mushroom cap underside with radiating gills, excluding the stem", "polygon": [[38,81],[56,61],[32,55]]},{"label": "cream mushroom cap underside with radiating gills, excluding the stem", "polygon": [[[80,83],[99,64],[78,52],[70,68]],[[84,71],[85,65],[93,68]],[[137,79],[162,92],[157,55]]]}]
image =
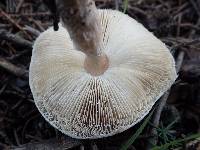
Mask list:
[{"label": "cream mushroom cap underside with radiating gills, excluding the stem", "polygon": [[102,138],[134,126],[177,77],[170,51],[143,25],[118,11],[98,12],[99,48],[109,59],[102,75],[87,73],[85,54],[61,25],[43,32],[33,46],[29,82],[35,104],[73,138]]}]

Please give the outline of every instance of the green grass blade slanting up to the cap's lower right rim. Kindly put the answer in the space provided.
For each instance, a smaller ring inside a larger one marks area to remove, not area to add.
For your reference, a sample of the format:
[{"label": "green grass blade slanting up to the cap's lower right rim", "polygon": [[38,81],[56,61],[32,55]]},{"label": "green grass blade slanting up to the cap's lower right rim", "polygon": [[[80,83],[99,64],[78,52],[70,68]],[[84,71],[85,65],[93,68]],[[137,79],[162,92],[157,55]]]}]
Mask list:
[{"label": "green grass blade slanting up to the cap's lower right rim", "polygon": [[148,115],[148,117],[144,120],[144,122],[142,123],[142,125],[140,126],[139,129],[137,129],[137,131],[135,132],[135,134],[125,143],[121,146],[120,150],[127,150],[129,148],[130,145],[133,144],[133,142],[138,138],[138,136],[142,133],[142,131],[144,130],[144,128],[146,127],[147,123],[149,122],[149,120],[151,119],[151,116],[153,115],[155,109],[153,109],[151,111],[151,113]]}]

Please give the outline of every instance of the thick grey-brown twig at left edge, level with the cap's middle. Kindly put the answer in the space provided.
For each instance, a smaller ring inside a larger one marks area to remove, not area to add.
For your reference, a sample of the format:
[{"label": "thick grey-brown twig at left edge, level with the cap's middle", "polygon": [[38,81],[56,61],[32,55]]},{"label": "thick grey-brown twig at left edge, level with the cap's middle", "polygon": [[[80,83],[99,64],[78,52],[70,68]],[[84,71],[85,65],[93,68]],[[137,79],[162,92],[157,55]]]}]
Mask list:
[{"label": "thick grey-brown twig at left edge, level with the cap's middle", "polygon": [[4,58],[0,58],[0,67],[6,69],[10,73],[18,76],[28,78],[28,71],[13,65],[12,63],[8,62]]}]

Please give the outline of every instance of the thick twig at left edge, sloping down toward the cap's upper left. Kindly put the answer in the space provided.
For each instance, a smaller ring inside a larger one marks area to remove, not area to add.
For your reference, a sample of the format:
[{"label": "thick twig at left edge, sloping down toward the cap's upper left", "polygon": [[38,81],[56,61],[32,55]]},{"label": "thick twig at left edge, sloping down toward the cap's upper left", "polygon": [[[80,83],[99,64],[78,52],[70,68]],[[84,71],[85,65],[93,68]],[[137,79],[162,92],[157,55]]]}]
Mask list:
[{"label": "thick twig at left edge, sloping down toward the cap's upper left", "polygon": [[17,35],[0,30],[0,39],[12,42],[13,44],[32,49],[32,42],[25,40]]}]

